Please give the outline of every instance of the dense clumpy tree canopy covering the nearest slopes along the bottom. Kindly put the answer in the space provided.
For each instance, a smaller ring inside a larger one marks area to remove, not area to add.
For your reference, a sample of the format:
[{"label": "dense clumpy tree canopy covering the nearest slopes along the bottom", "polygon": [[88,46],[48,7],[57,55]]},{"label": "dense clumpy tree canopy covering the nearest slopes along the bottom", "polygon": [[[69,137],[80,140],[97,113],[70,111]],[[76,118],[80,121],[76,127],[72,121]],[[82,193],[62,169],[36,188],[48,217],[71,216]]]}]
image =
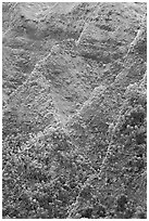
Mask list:
[{"label": "dense clumpy tree canopy covering the nearest slopes along the bottom", "polygon": [[[98,186],[103,183],[89,180],[98,170],[85,153],[77,154],[66,131],[57,127],[48,133],[29,134],[22,145],[13,135],[3,143],[3,217],[66,218],[79,195],[75,218],[145,218],[145,199],[139,196],[142,202],[136,208],[132,194],[139,184],[135,180],[145,179],[146,171],[146,88],[133,84],[125,96],[119,120],[110,129],[112,147],[102,171],[107,176],[102,182],[109,188],[103,196]],[[146,188],[141,182],[139,185]],[[113,200],[111,207],[105,197]]]}]

